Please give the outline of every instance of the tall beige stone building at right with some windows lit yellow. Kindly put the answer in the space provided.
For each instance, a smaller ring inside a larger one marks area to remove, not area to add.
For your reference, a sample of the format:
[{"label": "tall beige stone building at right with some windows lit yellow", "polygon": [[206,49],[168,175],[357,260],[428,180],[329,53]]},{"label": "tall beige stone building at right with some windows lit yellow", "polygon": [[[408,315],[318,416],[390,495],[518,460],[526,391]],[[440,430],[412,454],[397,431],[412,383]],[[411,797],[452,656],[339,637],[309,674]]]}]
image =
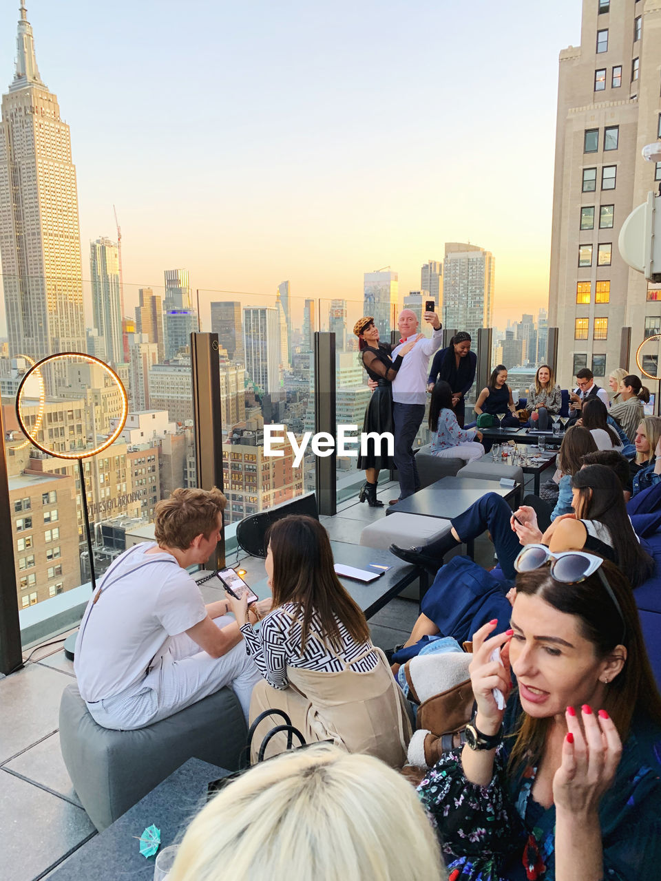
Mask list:
[{"label": "tall beige stone building at right with some windows lit yellow", "polygon": [[[588,366],[598,381],[661,326],[661,290],[620,257],[628,214],[661,180],[642,159],[661,139],[661,0],[583,0],[581,45],[560,54],[549,318],[558,380]],[[628,364],[636,369],[633,358]]]}]

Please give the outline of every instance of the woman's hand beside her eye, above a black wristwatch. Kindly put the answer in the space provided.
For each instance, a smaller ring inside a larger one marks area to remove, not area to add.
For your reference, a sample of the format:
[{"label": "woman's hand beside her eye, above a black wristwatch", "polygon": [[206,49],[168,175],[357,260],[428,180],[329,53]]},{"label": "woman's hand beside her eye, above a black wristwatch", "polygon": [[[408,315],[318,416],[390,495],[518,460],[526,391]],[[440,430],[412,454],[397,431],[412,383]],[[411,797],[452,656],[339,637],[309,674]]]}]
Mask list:
[{"label": "woman's hand beside her eye, above a black wristwatch", "polygon": [[[495,698],[494,688],[500,689],[507,703],[509,692],[512,690],[512,679],[509,670],[509,641],[512,631],[490,634],[498,626],[498,621],[489,621],[480,627],[472,638],[472,661],[468,666],[471,674],[472,693],[478,705],[477,727],[483,734],[495,734],[501,727],[504,709],[499,710]],[[492,661],[491,654],[494,648],[501,649],[501,660]]]}]

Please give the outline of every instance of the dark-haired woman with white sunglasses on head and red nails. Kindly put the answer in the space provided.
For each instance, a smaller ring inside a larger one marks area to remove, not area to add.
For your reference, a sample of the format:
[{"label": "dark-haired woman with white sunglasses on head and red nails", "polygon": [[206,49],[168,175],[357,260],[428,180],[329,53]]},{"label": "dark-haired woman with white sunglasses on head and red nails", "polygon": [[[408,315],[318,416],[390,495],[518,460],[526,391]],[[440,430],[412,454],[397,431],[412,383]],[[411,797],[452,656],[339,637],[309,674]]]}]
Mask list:
[{"label": "dark-haired woman with white sunglasses on head and red nails", "polygon": [[538,544],[516,570],[511,629],[473,636],[466,745],[419,787],[449,877],[655,881],[661,697],[631,587],[607,560]]}]

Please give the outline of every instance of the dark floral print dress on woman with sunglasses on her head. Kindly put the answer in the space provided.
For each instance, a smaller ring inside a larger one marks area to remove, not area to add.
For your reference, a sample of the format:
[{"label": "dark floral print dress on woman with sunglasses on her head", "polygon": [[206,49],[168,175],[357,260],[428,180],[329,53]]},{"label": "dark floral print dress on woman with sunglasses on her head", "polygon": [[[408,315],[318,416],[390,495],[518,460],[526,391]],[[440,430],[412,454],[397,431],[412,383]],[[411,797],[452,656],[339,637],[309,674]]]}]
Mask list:
[{"label": "dark floral print dress on woman with sunglasses on her head", "polygon": [[[522,712],[513,692],[506,735],[516,731]],[[555,808],[546,810],[531,796],[536,767],[508,776],[514,740],[505,737],[496,750],[494,777],[486,787],[466,780],[459,751],[446,753],[420,783],[420,800],[439,834],[449,881],[555,879]],[[605,881],[661,877],[660,774],[661,729],[635,720],[599,810]]]}]

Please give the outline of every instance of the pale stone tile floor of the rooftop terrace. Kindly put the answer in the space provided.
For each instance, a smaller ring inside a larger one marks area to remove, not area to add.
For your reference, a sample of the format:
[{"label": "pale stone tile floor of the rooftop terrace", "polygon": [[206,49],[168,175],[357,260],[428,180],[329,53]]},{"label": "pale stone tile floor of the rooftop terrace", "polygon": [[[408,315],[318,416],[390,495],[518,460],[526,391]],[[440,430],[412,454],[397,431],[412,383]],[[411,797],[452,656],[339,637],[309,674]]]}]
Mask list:
[{"label": "pale stone tile floor of the rooftop terrace", "polygon": [[[397,489],[385,484],[379,490],[386,506]],[[320,519],[332,540],[358,544],[363,525],[384,515],[384,508],[353,499],[339,505],[337,515]],[[476,542],[476,559],[493,565],[493,545],[485,537]],[[234,555],[227,560],[229,566],[237,562],[249,583],[265,577],[264,560]],[[369,621],[375,645],[404,642],[417,617],[415,600],[391,600]],[[11,881],[38,881],[96,831],[71,788],[60,752],[58,710],[64,688],[75,678],[73,664],[64,656],[62,640],[26,651],[24,660],[22,670],[0,677],[0,865],[2,877]]]}]

